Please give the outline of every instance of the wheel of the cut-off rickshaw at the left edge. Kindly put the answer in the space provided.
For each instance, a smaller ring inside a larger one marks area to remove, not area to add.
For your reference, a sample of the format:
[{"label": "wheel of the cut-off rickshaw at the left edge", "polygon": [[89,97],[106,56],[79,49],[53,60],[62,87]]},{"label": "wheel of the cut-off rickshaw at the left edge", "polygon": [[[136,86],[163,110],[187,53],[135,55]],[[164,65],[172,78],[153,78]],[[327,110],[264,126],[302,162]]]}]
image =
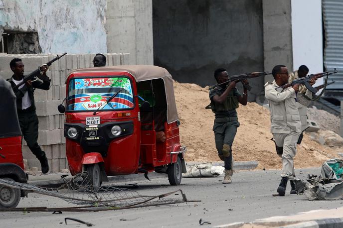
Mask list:
[{"label": "wheel of the cut-off rickshaw at the left edge", "polygon": [[[5,177],[5,180],[14,181]],[[15,208],[20,201],[20,190],[0,185],[0,208]]]}]

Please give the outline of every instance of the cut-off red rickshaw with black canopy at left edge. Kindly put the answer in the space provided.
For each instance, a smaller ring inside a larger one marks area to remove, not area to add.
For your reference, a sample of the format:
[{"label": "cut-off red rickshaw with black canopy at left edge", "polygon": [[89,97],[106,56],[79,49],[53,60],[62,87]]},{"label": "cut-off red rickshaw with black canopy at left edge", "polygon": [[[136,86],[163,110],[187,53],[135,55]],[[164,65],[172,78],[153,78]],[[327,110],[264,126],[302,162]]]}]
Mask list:
[{"label": "cut-off red rickshaw with black canopy at left edge", "polygon": [[[0,178],[27,183],[21,151],[21,130],[16,112],[16,97],[9,82],[0,76]],[[15,208],[25,193],[0,185],[0,208]]]}]

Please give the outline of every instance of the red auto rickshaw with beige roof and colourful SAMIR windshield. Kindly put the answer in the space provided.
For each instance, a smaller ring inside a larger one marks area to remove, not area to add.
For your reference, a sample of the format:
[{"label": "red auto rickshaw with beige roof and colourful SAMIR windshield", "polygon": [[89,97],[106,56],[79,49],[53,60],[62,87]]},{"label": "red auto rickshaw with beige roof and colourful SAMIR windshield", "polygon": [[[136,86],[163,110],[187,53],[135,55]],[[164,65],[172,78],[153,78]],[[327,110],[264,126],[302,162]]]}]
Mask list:
[{"label": "red auto rickshaw with beige roof and colourful SAMIR windshield", "polygon": [[107,176],[186,172],[172,76],[161,67],[84,68],[66,79],[64,136],[70,173],[87,171],[94,186]]}]

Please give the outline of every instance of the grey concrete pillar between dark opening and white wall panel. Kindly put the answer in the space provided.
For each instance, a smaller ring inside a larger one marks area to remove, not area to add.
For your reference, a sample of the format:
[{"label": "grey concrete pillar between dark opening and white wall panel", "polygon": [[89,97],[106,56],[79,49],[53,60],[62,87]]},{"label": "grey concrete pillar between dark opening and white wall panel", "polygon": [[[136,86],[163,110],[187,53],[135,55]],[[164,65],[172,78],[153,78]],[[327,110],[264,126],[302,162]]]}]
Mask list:
[{"label": "grey concrete pillar between dark opening and white wall panel", "polygon": [[[293,69],[291,11],[291,0],[263,0],[264,69],[268,72],[278,64]],[[273,76],[265,77],[271,80]]]}]

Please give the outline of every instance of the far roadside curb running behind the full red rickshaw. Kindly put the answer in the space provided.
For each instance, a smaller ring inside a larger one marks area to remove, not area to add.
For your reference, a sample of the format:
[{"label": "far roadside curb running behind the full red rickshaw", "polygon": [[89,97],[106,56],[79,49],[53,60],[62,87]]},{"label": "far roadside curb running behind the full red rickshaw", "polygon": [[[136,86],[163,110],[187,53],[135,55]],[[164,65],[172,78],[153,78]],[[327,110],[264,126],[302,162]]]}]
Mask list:
[{"label": "far roadside curb running behind the full red rickshaw", "polygon": [[[187,162],[186,165],[192,165],[192,164],[200,164],[204,162]],[[224,166],[224,162],[213,162],[213,165],[219,165]],[[233,163],[233,170],[249,170],[249,169],[255,169],[258,166],[257,161],[236,161]],[[69,174],[68,177],[66,177],[67,180],[71,179],[70,173],[61,173],[60,176],[63,174]],[[49,175],[49,174],[47,174]],[[56,176],[58,174],[54,174]],[[150,180],[159,179],[159,178],[168,178],[167,174],[160,174],[156,172],[151,172],[148,174],[148,177]],[[129,175],[121,175],[121,176],[109,176],[108,177],[109,182],[114,181],[142,181],[147,180],[144,177],[143,173],[138,174],[129,174]],[[33,184],[40,187],[54,187],[54,186],[60,186],[61,184],[64,184],[62,179],[57,180],[32,180],[28,181],[29,184]]]}]

